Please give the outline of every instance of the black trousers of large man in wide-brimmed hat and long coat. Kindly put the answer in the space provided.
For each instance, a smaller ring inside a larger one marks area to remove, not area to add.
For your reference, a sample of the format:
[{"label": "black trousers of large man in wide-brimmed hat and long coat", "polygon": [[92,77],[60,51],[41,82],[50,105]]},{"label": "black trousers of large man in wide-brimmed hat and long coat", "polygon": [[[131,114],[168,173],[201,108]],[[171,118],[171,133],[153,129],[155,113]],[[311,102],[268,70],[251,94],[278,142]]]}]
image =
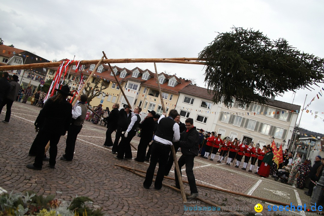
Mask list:
[{"label": "black trousers of large man in wide-brimmed hat and long coat", "polygon": [[38,132],[39,145],[35,157],[34,166],[41,168],[43,165],[43,157],[45,154],[45,146],[50,141],[50,165],[55,166],[57,156],[57,143],[60,141],[61,134],[56,131],[47,131],[42,129]]}]

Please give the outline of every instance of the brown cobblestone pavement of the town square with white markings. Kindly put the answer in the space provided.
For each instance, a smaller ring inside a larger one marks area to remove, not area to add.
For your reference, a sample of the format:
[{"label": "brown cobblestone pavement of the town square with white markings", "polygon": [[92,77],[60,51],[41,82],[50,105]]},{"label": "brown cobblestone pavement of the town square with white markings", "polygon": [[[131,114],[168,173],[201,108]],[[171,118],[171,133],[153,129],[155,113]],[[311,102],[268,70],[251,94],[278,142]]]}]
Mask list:
[{"label": "brown cobblestone pavement of the town square with white markings", "polygon": [[[184,204],[181,194],[167,187],[162,187],[161,190],[155,190],[154,187],[143,188],[142,177],[115,164],[146,171],[148,163],[116,160],[111,149],[102,146],[106,128],[88,121],[78,135],[73,161],[59,160],[65,148],[66,136],[63,136],[58,144],[55,169],[46,167],[48,162],[44,162],[41,171],[26,168],[26,165],[34,160],[34,157],[28,156],[28,151],[36,136],[33,123],[40,109],[29,104],[14,102],[9,124],[0,123],[0,193],[1,191],[33,190],[43,195],[54,194],[56,198],[64,200],[72,200],[76,195],[88,196],[94,200],[94,205],[102,207],[107,215],[182,215],[199,213],[190,210],[196,205],[207,206],[204,203]],[[4,107],[0,121],[4,119],[5,111]],[[132,141],[134,146],[138,145],[139,139],[134,137]],[[133,150],[133,157],[135,155],[136,151]],[[178,152],[177,156],[180,155],[181,153]],[[306,188],[297,189],[274,181],[271,177],[261,178],[254,174],[255,168],[253,173],[249,173],[243,171],[241,166],[235,168],[224,165],[224,161],[222,164],[216,161],[216,159],[210,161],[201,157],[195,158],[194,174],[197,183],[284,203],[292,202],[296,206],[304,203],[308,207],[310,205],[310,198],[304,194]],[[174,177],[174,172],[171,171],[169,176]],[[185,172],[183,178],[187,180]],[[174,185],[172,180],[165,179],[163,182]],[[185,191],[190,193],[189,185],[184,185]],[[254,206],[260,203],[263,206],[262,214],[266,215],[267,206],[272,205],[207,188],[198,187],[198,190],[200,198],[221,206],[222,210],[238,209],[238,212],[254,215],[256,213]],[[222,210],[203,210],[200,214],[217,214],[223,212]],[[303,212],[297,212],[297,215],[299,214]]]}]

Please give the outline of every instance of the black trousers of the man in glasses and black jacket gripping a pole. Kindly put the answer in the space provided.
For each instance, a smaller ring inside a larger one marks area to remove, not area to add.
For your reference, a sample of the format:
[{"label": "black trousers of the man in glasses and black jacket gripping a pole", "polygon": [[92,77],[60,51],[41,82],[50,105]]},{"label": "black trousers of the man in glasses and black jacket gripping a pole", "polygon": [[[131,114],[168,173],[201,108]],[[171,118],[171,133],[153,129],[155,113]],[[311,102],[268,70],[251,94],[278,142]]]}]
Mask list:
[{"label": "black trousers of the man in glasses and black jacket gripping a pole", "polygon": [[[179,165],[180,174],[181,174],[181,167],[183,165],[186,165],[186,175],[187,175],[188,182],[189,182],[190,192],[198,193],[195,176],[193,175],[193,170],[192,170],[194,158],[195,158],[195,155],[183,155],[182,154],[178,160],[178,165]],[[175,179],[176,179],[176,186],[180,187],[177,172],[174,172],[174,173],[175,173]]]}]

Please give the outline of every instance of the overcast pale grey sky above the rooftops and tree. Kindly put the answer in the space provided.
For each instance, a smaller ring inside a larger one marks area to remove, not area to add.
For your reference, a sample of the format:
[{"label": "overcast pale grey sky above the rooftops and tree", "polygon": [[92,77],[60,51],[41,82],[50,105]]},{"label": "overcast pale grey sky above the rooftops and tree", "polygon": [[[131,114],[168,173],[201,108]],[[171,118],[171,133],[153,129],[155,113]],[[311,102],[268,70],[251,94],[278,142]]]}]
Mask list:
[{"label": "overcast pale grey sky above the rooftops and tree", "polygon": [[[297,49],[324,57],[324,1],[4,1],[0,37],[5,45],[34,52],[47,60],[197,57],[231,27],[253,28],[270,39],[284,38]],[[114,64],[113,64],[114,65]],[[153,63],[116,64],[154,72]],[[157,63],[166,71],[193,78],[205,87],[200,65]],[[323,87],[297,90],[276,99],[303,106]],[[324,91],[322,91],[324,93]],[[324,97],[324,96],[323,96]],[[323,97],[309,110],[324,118]],[[294,101],[293,101],[294,99]],[[323,119],[303,113],[300,127],[324,133]],[[299,121],[297,119],[297,123]]]}]

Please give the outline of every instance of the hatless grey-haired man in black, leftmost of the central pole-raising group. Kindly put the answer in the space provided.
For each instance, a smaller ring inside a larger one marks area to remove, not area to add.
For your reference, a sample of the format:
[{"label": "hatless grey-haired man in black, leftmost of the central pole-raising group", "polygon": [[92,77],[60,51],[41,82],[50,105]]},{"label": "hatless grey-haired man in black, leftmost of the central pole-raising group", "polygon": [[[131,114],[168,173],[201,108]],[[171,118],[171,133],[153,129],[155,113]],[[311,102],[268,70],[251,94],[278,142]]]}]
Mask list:
[{"label": "hatless grey-haired man in black, leftmost of the central pole-raising group", "polygon": [[103,144],[103,146],[110,147],[113,145],[112,139],[111,139],[111,134],[112,134],[112,132],[114,132],[117,129],[116,122],[118,122],[118,119],[119,119],[118,109],[119,109],[119,104],[113,104],[112,110],[109,113],[108,117],[102,118],[102,120],[107,122],[106,140],[105,140],[105,143]]}]

